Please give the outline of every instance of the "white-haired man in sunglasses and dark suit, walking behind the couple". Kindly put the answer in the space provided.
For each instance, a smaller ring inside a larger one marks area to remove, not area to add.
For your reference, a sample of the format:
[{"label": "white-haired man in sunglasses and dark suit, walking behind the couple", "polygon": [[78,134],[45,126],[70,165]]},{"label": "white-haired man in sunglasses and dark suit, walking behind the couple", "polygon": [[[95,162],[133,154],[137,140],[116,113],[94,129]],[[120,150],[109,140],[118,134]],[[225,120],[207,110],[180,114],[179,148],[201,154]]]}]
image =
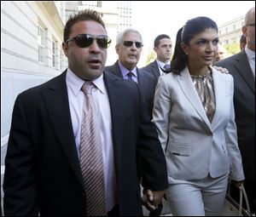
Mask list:
[{"label": "white-haired man in sunglasses and dark suit, walking behind the couple", "polygon": [[113,66],[106,66],[105,71],[109,71],[118,77],[131,80],[138,84],[143,95],[145,106],[152,117],[154,104],[154,88],[156,81],[154,77],[137,68],[143,48],[143,40],[139,31],[135,29],[125,29],[117,36],[115,50],[119,55]]}]

